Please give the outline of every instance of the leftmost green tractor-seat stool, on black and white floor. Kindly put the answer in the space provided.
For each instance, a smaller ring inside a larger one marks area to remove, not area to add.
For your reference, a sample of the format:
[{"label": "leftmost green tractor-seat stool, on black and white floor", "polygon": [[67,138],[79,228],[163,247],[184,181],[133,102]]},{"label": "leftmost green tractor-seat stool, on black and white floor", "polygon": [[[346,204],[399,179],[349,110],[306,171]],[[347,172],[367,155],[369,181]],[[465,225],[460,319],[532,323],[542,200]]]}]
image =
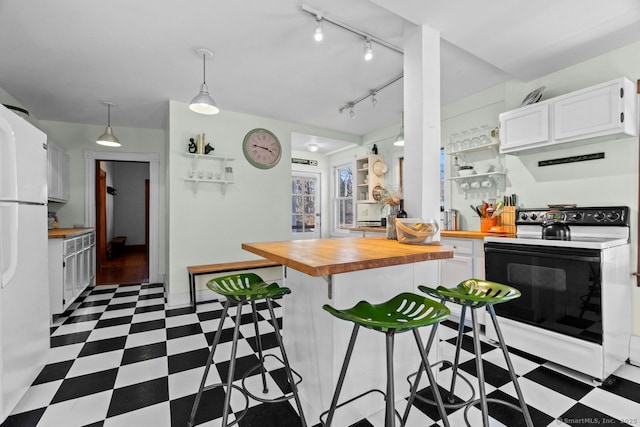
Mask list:
[{"label": "leftmost green tractor-seat stool, on black and white floor", "polygon": [[[272,300],[282,298],[284,295],[291,293],[289,288],[281,287],[277,283],[265,283],[264,280],[260,278],[257,274],[254,273],[243,273],[243,274],[232,274],[229,276],[218,277],[207,282],[207,287],[216,292],[217,294],[223,295],[226,297],[226,302],[224,304],[224,308],[222,310],[222,316],[220,317],[220,324],[218,325],[218,330],[216,331],[216,335],[213,338],[213,343],[211,344],[211,352],[209,353],[209,358],[207,359],[207,364],[205,365],[204,374],[202,375],[202,380],[200,381],[200,387],[198,388],[198,393],[196,394],[196,399],[193,402],[193,407],[191,409],[191,415],[189,416],[189,421],[187,423],[187,427],[192,427],[195,422],[196,414],[198,412],[198,406],[200,405],[200,400],[202,398],[202,393],[206,390],[210,390],[215,387],[221,387],[226,385],[226,393],[224,399],[224,409],[222,413],[222,426],[232,426],[237,424],[242,417],[247,412],[249,406],[249,397],[264,403],[275,403],[275,402],[283,402],[286,400],[294,399],[296,402],[296,407],[298,408],[298,413],[300,415],[300,425],[302,427],[306,427],[307,423],[304,418],[304,413],[302,412],[302,404],[300,403],[300,397],[298,395],[298,384],[302,381],[300,375],[297,372],[293,371],[289,366],[289,359],[287,358],[287,353],[284,349],[284,345],[282,344],[282,336],[280,335],[280,330],[278,327],[278,322],[276,320],[275,313],[273,311]],[[260,338],[260,331],[258,329],[258,315],[256,311],[256,301],[265,301],[267,307],[269,308],[269,314],[271,315],[271,325],[275,331],[276,341],[278,342],[278,346],[280,347],[280,352],[282,354],[282,359],[278,358],[274,355],[265,355],[262,354],[262,340]],[[256,332],[256,342],[258,345],[258,357],[260,359],[260,363],[253,368],[249,369],[242,377],[242,388],[233,384],[234,371],[236,365],[236,351],[238,348],[238,336],[240,332],[240,321],[242,317],[242,306],[245,303],[251,304],[252,315],[253,315],[253,325]],[[227,382],[212,384],[205,387],[205,383],[207,381],[207,375],[209,374],[209,368],[211,367],[211,363],[213,361],[213,355],[216,351],[216,347],[220,342],[220,336],[222,335],[222,327],[224,325],[224,321],[227,317],[227,311],[231,305],[236,306],[236,316],[235,316],[235,326],[233,329],[233,343],[231,346],[231,359],[229,361],[229,372],[227,375]],[[284,369],[287,373],[287,379],[289,381],[289,386],[291,387],[291,393],[287,393],[282,397],[275,399],[264,399],[251,393],[245,387],[245,380],[247,376],[255,372],[257,369],[260,369],[260,374],[262,376],[262,387],[263,393],[268,393],[267,388],[267,380],[266,380],[266,370],[264,367],[264,361],[266,356],[271,356],[277,359],[280,363],[284,365]],[[295,381],[293,378],[293,374],[296,375],[298,381]],[[229,402],[231,400],[231,390],[235,388],[238,390],[245,399],[245,408],[242,413],[230,424],[227,424],[227,420],[229,417]]]}]

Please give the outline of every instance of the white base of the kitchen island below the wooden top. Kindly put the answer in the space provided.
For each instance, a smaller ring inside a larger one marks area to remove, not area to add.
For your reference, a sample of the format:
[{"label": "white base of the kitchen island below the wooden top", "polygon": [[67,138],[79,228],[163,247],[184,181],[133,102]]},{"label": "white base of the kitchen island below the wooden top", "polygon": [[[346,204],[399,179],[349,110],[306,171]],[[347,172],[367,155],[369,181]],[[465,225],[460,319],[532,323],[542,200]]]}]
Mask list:
[{"label": "white base of the kitchen island below the wooden top", "polygon": [[[320,413],[329,409],[353,330],[353,323],[333,317],[322,309],[323,304],[342,309],[361,300],[384,302],[401,292],[420,294],[419,284],[437,284],[439,266],[439,262],[424,261],[327,277],[312,277],[286,268],[284,284],[292,293],[284,300],[284,340],[291,367],[303,378],[299,392],[307,425],[317,424]],[[425,345],[430,331],[431,328],[422,330]],[[437,360],[437,345],[433,347],[431,363]],[[401,415],[403,400],[409,394],[406,378],[417,370],[419,361],[413,334],[396,335],[394,381],[396,409]],[[427,384],[425,376],[422,384]],[[372,388],[386,390],[385,334],[360,328],[339,402]],[[384,420],[384,399],[373,393],[339,408],[332,425],[349,426],[378,412]]]}]

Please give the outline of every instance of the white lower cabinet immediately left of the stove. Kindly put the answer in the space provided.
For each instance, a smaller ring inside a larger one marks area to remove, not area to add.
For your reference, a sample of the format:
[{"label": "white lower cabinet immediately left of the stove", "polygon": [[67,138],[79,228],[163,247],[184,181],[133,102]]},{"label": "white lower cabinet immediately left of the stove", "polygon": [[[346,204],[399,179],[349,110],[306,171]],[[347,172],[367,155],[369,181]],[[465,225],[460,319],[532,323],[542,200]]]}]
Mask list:
[{"label": "white lower cabinet immediately left of the stove", "polygon": [[[453,258],[442,260],[440,286],[453,288],[463,280],[484,279],[484,240],[466,238],[442,238],[442,244],[453,247]],[[451,313],[460,317],[461,307],[447,303]],[[477,312],[478,321],[484,324],[485,310]],[[471,322],[471,314],[467,313]]]}]

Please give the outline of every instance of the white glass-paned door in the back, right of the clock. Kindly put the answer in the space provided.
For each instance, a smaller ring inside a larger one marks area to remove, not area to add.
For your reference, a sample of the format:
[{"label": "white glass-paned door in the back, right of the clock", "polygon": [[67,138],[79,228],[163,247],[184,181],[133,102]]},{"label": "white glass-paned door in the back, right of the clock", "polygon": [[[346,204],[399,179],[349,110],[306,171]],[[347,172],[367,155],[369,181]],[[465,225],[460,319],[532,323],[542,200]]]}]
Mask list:
[{"label": "white glass-paned door in the back, right of the clock", "polygon": [[291,238],[321,236],[320,174],[291,172]]}]

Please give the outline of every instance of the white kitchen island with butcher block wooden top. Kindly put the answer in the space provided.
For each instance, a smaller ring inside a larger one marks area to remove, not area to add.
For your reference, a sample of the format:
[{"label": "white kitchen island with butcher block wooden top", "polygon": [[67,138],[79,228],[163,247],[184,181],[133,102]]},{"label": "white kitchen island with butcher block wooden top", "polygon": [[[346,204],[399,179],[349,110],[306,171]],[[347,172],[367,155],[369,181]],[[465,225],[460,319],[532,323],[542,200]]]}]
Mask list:
[{"label": "white kitchen island with butcher block wooden top", "polygon": [[[282,302],[285,346],[303,378],[299,390],[308,425],[329,408],[353,327],[322,305],[347,308],[360,300],[379,303],[401,292],[419,293],[417,285],[438,282],[439,263],[432,261],[453,256],[451,247],[438,242],[403,245],[385,237],[243,243],[242,248],[285,268],[284,284],[292,290]],[[409,392],[404,378],[419,363],[411,334],[397,336],[395,355],[396,396],[403,399]],[[341,401],[372,388],[385,390],[385,360],[384,336],[361,330]],[[348,426],[383,410],[382,397],[372,394],[339,409],[334,425]]]}]

